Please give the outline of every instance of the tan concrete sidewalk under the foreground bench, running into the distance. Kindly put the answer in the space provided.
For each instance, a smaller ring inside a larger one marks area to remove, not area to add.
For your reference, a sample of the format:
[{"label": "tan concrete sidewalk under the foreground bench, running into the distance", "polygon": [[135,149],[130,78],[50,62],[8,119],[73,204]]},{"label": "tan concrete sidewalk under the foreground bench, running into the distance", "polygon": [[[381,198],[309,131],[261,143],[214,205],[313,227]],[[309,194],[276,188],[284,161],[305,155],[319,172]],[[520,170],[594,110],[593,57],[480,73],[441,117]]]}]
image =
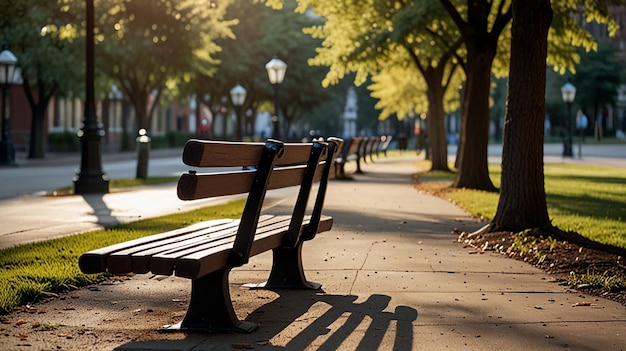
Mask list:
[{"label": "tan concrete sidewalk under the foreground bench, running into the distance", "polygon": [[[235,310],[259,323],[252,334],[157,332],[182,318],[190,284],[138,275],[34,306],[46,313],[11,315],[10,325],[0,326],[0,340],[9,350],[626,349],[626,306],[583,296],[532,266],[456,243],[455,229],[483,224],[417,192],[411,186],[416,160],[380,158],[353,181],[330,183],[325,213],[335,218],[334,228],[304,247],[307,277],[323,291],[242,288],[267,278],[270,253],[233,271]],[[103,197],[111,213],[115,197]],[[146,200],[124,201],[132,208]],[[573,307],[582,301],[591,305]],[[33,323],[60,326],[34,331]]]}]

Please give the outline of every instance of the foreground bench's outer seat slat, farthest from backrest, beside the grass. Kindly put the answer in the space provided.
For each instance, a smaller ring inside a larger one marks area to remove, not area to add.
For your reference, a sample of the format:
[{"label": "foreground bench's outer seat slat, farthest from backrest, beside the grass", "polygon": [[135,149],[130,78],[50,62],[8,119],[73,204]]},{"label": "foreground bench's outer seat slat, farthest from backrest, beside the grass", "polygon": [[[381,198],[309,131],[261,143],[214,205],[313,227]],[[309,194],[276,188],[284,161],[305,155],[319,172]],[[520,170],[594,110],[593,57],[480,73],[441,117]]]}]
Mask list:
[{"label": "foreground bench's outer seat slat, farthest from backrest, beside the grass", "polygon": [[232,221],[233,220],[229,218],[204,221],[204,222],[190,225],[188,227],[171,230],[169,232],[150,235],[147,237],[130,240],[130,241],[126,241],[123,243],[110,245],[110,246],[103,247],[97,250],[92,250],[80,256],[78,260],[78,265],[81,271],[86,274],[106,272],[107,258],[110,254],[116,251],[125,250],[131,247],[140,246],[140,245],[144,245],[147,243],[154,243],[154,242],[158,242],[164,239],[185,235],[188,233],[193,233],[198,230],[210,228],[213,226],[223,225]]}]

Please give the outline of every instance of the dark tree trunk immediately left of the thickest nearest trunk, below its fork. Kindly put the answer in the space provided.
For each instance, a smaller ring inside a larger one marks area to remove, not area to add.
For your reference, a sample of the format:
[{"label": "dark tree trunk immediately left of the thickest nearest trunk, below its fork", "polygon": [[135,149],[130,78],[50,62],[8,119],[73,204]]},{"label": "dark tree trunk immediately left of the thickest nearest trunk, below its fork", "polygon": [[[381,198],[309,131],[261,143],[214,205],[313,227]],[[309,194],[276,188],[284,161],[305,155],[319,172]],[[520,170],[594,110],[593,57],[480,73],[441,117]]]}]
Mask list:
[{"label": "dark tree trunk immediately left of the thickest nearest trunk, below its fork", "polygon": [[466,41],[467,81],[461,126],[460,158],[454,188],[497,191],[489,178],[487,145],[489,143],[489,91],[491,65],[497,41],[488,38]]}]

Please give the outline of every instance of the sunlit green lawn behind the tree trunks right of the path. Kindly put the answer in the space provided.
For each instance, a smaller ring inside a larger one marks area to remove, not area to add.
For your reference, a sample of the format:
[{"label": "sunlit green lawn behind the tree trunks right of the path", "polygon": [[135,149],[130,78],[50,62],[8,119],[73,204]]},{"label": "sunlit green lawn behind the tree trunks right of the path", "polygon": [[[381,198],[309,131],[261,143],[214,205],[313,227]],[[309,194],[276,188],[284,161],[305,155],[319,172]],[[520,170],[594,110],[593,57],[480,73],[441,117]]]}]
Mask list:
[{"label": "sunlit green lawn behind the tree trunks right of the path", "polygon": [[[423,165],[421,168],[424,168]],[[490,177],[500,186],[500,166],[490,165]],[[546,202],[552,224],[575,231],[601,243],[626,248],[626,172],[619,168],[546,164]],[[449,184],[453,174],[424,173],[422,181]],[[447,193],[459,206],[477,218],[492,219],[498,194],[476,190]]]}]

